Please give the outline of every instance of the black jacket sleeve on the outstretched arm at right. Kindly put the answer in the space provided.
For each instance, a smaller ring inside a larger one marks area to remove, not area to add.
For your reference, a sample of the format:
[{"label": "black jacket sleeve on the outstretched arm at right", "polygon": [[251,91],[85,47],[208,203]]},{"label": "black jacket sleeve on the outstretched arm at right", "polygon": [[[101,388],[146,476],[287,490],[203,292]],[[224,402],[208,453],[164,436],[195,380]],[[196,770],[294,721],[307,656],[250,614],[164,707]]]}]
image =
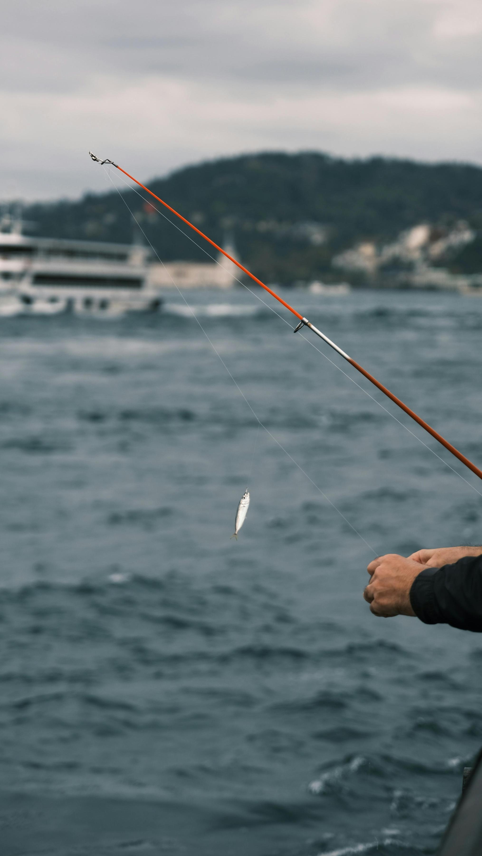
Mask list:
[{"label": "black jacket sleeve on the outstretched arm at right", "polygon": [[425,568],[414,579],[410,603],[425,624],[450,624],[482,633],[482,556]]}]

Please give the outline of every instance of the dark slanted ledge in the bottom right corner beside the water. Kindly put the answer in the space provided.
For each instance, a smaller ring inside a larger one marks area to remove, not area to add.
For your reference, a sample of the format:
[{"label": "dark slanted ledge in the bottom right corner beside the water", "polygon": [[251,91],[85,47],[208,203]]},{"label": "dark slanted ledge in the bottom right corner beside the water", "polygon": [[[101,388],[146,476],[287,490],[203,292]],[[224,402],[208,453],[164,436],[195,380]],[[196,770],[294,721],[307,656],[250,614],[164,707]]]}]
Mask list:
[{"label": "dark slanted ledge in the bottom right corner beside the water", "polygon": [[480,856],[482,853],[482,751],[463,772],[462,795],[438,856]]}]

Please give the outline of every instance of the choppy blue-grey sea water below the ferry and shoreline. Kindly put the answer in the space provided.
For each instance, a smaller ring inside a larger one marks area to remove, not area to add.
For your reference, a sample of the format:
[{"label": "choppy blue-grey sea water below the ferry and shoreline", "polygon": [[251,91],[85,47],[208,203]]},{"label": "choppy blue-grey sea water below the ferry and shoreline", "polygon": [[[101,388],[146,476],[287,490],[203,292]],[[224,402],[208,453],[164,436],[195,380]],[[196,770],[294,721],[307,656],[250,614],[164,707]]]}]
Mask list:
[{"label": "choppy blue-grey sea water below the ferry and shoreline", "polygon": [[[293,300],[482,461],[482,300]],[[480,541],[480,496],[250,294],[193,302],[374,550]],[[369,613],[369,550],[264,431],[253,456],[175,294],[0,324],[3,856],[432,853],[482,743],[482,639]]]}]

